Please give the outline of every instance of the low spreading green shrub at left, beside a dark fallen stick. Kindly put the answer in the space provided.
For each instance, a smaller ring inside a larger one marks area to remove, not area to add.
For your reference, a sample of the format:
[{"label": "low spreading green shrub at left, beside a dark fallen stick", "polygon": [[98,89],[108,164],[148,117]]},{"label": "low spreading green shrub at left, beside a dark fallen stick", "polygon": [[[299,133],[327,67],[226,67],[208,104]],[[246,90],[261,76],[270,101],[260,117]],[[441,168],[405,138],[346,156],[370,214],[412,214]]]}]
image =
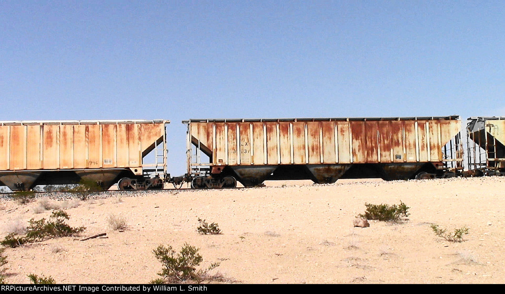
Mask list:
[{"label": "low spreading green shrub at left, beside a dark fallen stick", "polygon": [[8,234],[0,243],[8,247],[18,247],[24,243],[41,241],[47,238],[73,236],[82,232],[84,227],[73,228],[66,221],[70,217],[62,210],[54,211],[49,221],[31,219],[28,222],[25,236],[17,236],[15,233]]}]

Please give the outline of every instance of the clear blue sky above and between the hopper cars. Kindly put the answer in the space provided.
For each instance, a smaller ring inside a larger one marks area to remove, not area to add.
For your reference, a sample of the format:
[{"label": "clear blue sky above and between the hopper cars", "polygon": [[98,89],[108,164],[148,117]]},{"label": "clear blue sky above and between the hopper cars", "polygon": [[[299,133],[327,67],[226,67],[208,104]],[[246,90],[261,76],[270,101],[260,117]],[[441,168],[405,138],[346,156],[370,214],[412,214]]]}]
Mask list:
[{"label": "clear blue sky above and between the hopper cars", "polygon": [[503,1],[0,1],[0,120],[505,116]]}]

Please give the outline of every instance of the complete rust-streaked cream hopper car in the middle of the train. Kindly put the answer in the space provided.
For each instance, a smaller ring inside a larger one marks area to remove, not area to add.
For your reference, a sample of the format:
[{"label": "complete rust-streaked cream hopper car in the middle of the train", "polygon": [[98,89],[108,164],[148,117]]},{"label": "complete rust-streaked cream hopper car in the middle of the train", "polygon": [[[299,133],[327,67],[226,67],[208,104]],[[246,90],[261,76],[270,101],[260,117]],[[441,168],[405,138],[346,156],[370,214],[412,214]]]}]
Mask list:
[{"label": "complete rust-streaked cream hopper car in the middle of the train", "polygon": [[192,187],[265,180],[424,179],[463,169],[459,116],[237,119],[187,124]]}]

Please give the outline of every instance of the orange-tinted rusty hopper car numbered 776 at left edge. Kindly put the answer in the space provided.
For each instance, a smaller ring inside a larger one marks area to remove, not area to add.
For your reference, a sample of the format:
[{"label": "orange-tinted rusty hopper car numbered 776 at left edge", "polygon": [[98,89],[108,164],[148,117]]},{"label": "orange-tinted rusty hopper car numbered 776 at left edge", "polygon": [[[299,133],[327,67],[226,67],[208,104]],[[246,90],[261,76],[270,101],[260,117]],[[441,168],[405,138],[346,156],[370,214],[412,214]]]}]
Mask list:
[{"label": "orange-tinted rusty hopper car numbered 776 at left edge", "polygon": [[[165,176],[165,120],[2,121],[0,185],[12,190],[35,185],[93,181],[104,189],[162,188]],[[163,145],[162,149],[159,145]],[[143,164],[156,150],[156,162]],[[160,151],[160,153],[158,153]],[[155,174],[149,180],[147,173]],[[132,181],[130,181],[132,180]]]}]

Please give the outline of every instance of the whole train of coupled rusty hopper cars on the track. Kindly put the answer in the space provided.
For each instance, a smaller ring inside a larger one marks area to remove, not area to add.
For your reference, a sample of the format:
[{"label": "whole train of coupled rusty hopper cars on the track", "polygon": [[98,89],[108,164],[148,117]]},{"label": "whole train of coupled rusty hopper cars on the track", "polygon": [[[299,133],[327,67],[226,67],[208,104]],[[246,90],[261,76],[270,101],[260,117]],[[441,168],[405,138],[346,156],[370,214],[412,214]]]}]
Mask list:
[{"label": "whole train of coupled rusty hopper cars on the track", "polygon": [[[167,173],[167,120],[2,121],[0,185],[104,189],[258,186],[266,180],[505,175],[505,118],[191,119],[187,173]],[[148,163],[147,157],[154,156]]]}]

